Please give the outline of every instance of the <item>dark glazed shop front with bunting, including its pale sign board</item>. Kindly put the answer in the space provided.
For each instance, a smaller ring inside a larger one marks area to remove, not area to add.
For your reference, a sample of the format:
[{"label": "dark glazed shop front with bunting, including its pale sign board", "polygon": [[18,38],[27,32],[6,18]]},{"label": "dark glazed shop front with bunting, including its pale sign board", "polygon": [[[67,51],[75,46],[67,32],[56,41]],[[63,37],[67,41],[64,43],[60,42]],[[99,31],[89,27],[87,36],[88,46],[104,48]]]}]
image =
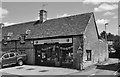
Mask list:
[{"label": "dark glazed shop front with bunting, including its pale sign board", "polygon": [[73,66],[72,38],[34,41],[35,64],[43,66]]}]

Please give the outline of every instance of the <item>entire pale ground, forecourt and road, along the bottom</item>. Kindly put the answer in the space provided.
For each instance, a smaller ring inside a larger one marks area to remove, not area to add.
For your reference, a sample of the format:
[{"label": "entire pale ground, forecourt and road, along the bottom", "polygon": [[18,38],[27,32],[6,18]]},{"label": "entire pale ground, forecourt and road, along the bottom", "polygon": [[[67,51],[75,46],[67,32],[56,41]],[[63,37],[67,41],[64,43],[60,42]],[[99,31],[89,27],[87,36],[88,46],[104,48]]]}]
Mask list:
[{"label": "entire pale ground, forecourt and road, along the bottom", "polygon": [[[117,77],[116,74],[120,73],[120,64],[117,59],[110,59],[104,64],[91,66],[83,71],[24,65],[4,68],[0,72],[4,74],[2,77],[6,77],[6,75],[7,77]],[[9,74],[14,76],[8,76]]]}]

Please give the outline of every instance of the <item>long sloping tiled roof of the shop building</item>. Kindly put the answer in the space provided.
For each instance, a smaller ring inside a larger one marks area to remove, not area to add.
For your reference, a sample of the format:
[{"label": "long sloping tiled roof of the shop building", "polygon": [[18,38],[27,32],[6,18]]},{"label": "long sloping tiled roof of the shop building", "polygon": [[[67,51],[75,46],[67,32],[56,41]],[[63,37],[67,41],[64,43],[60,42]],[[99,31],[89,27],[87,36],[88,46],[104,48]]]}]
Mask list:
[{"label": "long sloping tiled roof of the shop building", "polygon": [[17,39],[18,36],[25,33],[26,30],[31,30],[31,33],[28,35],[29,38],[80,35],[84,33],[92,14],[93,12],[50,19],[43,23],[30,21],[15,24],[3,27],[2,35],[6,36],[8,32],[12,32],[12,39]]}]

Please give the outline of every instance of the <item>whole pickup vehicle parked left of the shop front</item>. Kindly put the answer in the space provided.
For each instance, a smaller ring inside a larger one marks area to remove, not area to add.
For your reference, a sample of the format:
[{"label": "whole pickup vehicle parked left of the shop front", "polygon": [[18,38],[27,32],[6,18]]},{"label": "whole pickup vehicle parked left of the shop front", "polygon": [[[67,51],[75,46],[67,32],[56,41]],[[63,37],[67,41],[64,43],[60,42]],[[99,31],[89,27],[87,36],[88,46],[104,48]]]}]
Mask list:
[{"label": "whole pickup vehicle parked left of the shop front", "polygon": [[26,54],[16,52],[2,53],[0,57],[0,68],[13,64],[23,65],[27,59]]}]

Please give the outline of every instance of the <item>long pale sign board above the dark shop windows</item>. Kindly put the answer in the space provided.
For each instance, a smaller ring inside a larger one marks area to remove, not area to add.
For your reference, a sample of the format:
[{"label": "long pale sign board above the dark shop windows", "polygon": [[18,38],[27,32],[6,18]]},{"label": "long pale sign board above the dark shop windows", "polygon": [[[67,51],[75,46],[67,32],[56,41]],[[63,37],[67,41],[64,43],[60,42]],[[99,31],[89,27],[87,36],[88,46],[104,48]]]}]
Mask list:
[{"label": "long pale sign board above the dark shop windows", "polygon": [[44,43],[72,43],[72,38],[61,38],[61,39],[47,39],[47,40],[35,40],[34,44]]}]

